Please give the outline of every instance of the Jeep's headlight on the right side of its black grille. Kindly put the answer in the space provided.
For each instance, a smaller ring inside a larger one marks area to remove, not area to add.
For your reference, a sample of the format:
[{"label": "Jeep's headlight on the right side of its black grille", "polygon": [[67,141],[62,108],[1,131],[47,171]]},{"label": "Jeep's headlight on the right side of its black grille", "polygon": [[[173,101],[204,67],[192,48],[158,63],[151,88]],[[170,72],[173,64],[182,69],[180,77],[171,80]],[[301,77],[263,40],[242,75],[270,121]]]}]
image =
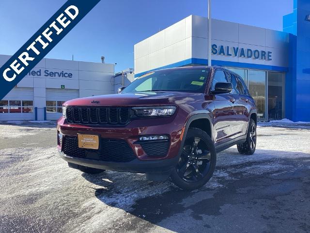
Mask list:
[{"label": "Jeep's headlight on the right side of its black grille", "polygon": [[165,107],[135,107],[132,108],[135,115],[139,117],[145,116],[172,116],[176,110],[176,106]]}]

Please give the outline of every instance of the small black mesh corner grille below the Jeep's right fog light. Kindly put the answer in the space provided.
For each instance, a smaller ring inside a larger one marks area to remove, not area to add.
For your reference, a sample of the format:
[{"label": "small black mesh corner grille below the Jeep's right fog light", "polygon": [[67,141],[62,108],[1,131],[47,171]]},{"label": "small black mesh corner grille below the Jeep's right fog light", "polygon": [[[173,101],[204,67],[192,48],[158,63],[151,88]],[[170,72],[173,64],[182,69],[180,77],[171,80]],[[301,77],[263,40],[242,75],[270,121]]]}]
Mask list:
[{"label": "small black mesh corner grille below the Jeep's right fog light", "polygon": [[165,157],[167,156],[170,142],[143,142],[140,143],[144,152],[151,157]]}]

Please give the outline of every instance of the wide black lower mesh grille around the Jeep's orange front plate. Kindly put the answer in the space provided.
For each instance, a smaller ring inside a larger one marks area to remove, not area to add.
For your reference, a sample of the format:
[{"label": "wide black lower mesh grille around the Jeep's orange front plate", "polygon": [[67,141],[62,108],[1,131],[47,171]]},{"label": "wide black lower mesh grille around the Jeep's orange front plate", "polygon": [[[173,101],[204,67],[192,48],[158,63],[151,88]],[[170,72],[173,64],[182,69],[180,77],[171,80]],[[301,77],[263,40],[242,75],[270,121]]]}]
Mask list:
[{"label": "wide black lower mesh grille around the Jeep's orange front plate", "polygon": [[62,151],[68,156],[105,162],[130,162],[136,155],[124,140],[101,138],[99,150],[81,149],[78,137],[64,136]]}]

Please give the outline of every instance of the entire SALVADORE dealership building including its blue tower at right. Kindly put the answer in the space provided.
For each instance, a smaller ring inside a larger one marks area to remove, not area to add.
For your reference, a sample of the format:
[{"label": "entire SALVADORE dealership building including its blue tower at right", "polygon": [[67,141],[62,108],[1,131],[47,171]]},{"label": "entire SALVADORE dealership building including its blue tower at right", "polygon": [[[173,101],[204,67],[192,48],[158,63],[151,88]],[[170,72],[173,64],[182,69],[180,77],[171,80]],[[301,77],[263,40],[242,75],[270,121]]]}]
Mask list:
[{"label": "entire SALVADORE dealership building including its blue tower at right", "polygon": [[[310,121],[310,1],[294,0],[283,32],[212,19],[212,65],[239,74],[260,121]],[[135,77],[208,64],[208,19],[189,16],[134,47]],[[177,85],[177,83],[175,83]]]}]

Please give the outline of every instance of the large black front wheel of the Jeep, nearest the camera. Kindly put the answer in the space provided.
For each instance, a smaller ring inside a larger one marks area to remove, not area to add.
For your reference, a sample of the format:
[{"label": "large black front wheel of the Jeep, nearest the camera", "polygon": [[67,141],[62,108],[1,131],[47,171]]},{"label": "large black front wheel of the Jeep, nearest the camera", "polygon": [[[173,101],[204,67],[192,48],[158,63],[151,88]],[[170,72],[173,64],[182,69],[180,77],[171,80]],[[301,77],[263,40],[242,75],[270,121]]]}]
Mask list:
[{"label": "large black front wheel of the Jeep, nearest the camera", "polygon": [[216,163],[216,150],[210,136],[201,129],[189,128],[171,180],[182,189],[200,188],[212,177]]}]

